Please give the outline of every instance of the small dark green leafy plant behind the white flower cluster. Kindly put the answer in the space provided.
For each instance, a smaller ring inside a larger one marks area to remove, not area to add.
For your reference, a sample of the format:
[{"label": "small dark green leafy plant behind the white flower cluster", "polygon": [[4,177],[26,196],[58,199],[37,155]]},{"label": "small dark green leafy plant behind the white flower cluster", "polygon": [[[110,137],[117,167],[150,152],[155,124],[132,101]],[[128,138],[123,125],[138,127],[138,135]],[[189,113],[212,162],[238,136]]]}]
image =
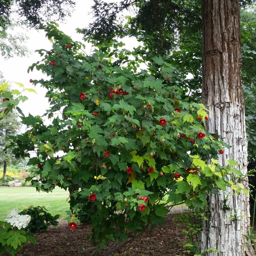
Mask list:
[{"label": "small dark green leafy plant behind the white flower cluster", "polygon": [[25,230],[29,232],[39,233],[40,231],[46,231],[49,226],[57,226],[59,222],[57,219],[60,217],[59,214],[52,216],[44,206],[34,207],[33,205],[25,208],[19,214],[28,214],[31,216],[31,221]]}]

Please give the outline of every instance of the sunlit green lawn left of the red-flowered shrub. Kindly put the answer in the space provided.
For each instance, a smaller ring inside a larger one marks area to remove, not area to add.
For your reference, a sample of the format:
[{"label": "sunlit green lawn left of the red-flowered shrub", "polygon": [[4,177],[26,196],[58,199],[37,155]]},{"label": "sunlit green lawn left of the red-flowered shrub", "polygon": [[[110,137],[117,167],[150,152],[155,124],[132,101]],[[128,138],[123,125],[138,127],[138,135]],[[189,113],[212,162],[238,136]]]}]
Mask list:
[{"label": "sunlit green lawn left of the red-flowered shrub", "polygon": [[0,220],[4,220],[12,209],[21,211],[29,205],[45,206],[52,215],[66,218],[68,196],[67,191],[58,187],[52,193],[39,193],[33,187],[0,187]]}]

